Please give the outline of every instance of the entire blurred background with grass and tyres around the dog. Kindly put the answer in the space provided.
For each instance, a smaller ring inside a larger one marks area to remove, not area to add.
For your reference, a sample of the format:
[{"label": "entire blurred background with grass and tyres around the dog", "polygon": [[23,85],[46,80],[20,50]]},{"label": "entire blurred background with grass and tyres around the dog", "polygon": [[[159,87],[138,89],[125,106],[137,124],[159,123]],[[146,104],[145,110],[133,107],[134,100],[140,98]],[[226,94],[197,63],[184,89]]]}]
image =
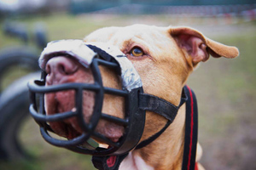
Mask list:
[{"label": "entire blurred background with grass and tyres around the dog", "polygon": [[79,38],[103,26],[191,26],[240,49],[209,59],[189,77],[199,105],[201,164],[256,169],[255,0],[0,0],[0,169],[94,169],[90,156],[53,147],[28,114],[26,82],[52,40]]}]

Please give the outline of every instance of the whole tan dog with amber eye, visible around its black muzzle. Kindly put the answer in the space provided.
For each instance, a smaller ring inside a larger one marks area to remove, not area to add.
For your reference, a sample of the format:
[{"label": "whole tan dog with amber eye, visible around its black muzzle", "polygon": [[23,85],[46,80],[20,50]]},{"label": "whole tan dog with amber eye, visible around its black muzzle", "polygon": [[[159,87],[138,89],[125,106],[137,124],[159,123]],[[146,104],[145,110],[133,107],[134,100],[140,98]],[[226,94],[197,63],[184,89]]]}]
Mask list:
[{"label": "whole tan dog with amber eye, visible around its black muzzle", "polygon": [[[126,27],[108,27],[92,32],[84,38],[85,42],[108,42],[127,55],[143,81],[146,94],[154,94],[178,105],[183,86],[189,74],[201,61],[213,57],[235,58],[237,48],[225,46],[204,37],[199,31],[186,27],[156,27],[134,25]],[[61,66],[60,66],[61,65]],[[66,57],[49,59],[46,65],[47,85],[65,82],[94,82],[89,69]],[[121,88],[118,77],[113,71],[101,67],[104,86]],[[46,111],[70,111],[74,107],[73,90],[46,95]],[[84,92],[84,119],[90,119],[93,110],[94,94]],[[105,95],[103,112],[113,116],[124,117],[124,101],[120,97]],[[132,150],[122,161],[121,170],[169,170],[181,169],[183,161],[185,105],[165,133],[153,143],[139,150]],[[143,139],[148,139],[166,125],[162,116],[147,112]],[[55,133],[73,139],[82,133],[77,120],[52,122],[50,126]],[[109,139],[117,141],[123,133],[123,127],[113,122],[100,121],[96,131]],[[201,156],[198,147],[197,161]],[[200,169],[203,169],[199,165]]]}]

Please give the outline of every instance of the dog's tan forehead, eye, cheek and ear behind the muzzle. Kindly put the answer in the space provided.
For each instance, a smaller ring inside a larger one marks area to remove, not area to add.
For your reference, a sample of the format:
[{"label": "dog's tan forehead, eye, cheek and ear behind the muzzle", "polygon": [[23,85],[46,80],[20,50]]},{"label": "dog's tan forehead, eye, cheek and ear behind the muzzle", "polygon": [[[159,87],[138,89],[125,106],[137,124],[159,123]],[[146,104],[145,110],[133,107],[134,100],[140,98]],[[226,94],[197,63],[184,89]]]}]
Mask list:
[{"label": "dog's tan forehead, eye, cheek and ear behind the muzzle", "polygon": [[239,54],[237,48],[214,42],[188,27],[107,27],[92,32],[84,41],[119,47],[141,76],[144,91],[175,105],[189,73],[198,63],[207,61],[210,55],[235,58]]}]

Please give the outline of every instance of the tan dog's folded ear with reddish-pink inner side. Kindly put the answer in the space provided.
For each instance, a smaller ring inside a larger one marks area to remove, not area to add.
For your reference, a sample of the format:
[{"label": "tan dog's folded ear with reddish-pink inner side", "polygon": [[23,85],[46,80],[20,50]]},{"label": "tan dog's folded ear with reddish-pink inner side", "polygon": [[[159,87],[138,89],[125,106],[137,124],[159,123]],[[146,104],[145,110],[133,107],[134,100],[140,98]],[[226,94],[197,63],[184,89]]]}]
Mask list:
[{"label": "tan dog's folded ear with reddish-pink inner side", "polygon": [[203,36],[200,31],[189,27],[172,27],[169,28],[172,37],[177,45],[189,54],[190,62],[195,66],[201,61],[207,61],[209,54],[212,57],[235,58],[239,55],[236,47],[226,46],[219,42]]}]

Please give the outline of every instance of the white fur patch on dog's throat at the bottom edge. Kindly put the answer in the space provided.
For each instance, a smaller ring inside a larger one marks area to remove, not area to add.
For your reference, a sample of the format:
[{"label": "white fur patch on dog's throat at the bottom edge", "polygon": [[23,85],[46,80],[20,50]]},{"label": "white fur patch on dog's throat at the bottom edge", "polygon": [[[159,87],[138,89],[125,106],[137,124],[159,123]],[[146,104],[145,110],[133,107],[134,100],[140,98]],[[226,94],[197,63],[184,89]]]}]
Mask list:
[{"label": "white fur patch on dog's throat at the bottom edge", "polygon": [[154,170],[154,167],[150,167],[147,165],[141,156],[137,156],[132,154],[131,152],[127,157],[125,157],[124,161],[121,162],[120,170]]}]

